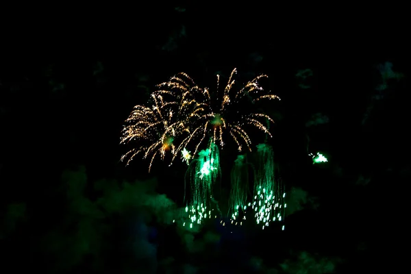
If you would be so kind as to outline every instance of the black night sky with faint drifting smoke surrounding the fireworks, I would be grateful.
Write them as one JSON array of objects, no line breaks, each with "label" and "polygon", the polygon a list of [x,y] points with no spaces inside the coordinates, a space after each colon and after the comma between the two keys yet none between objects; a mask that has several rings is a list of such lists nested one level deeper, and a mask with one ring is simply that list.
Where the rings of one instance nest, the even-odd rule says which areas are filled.
[{"label": "black night sky with faint drifting smoke surrounding the fireworks", "polygon": [[[394,273],[411,175],[401,9],[192,2],[61,7],[8,21],[3,272]],[[268,75],[262,86],[281,98],[264,112],[275,120],[275,169],[297,205],[284,232],[248,225],[228,233],[219,220],[182,229],[154,205],[184,207],[186,166],[157,160],[148,173],[148,160],[120,161],[123,122],[156,84],[184,71],[214,88],[216,75],[227,79],[234,68],[242,83]],[[327,163],[312,164],[308,154],[318,151]],[[224,210],[236,153],[221,150]],[[147,201],[134,202],[134,192]]]}]

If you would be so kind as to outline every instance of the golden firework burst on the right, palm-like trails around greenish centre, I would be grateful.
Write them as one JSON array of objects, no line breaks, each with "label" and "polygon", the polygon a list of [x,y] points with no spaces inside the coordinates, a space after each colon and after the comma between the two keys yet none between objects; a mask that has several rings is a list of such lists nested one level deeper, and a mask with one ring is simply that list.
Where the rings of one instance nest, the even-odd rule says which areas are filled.
[{"label": "golden firework burst on the right, palm-like trails around greenish centre", "polygon": [[[234,69],[223,90],[220,90],[220,76],[217,75],[217,88],[216,92],[213,93],[214,97],[208,88],[199,88],[189,78],[192,88],[187,88],[187,90],[190,90],[190,95],[196,101],[195,111],[190,112],[190,115],[186,117],[187,125],[190,125],[188,131],[190,134],[182,140],[178,149],[189,147],[191,143],[195,143],[195,154],[208,135],[212,136],[212,142],[223,147],[225,145],[223,136],[228,135],[236,142],[238,151],[242,151],[244,146],[251,151],[251,140],[245,129],[247,126],[255,127],[271,137],[269,129],[262,121],[273,123],[273,119],[266,114],[253,112],[252,108],[249,110],[244,107],[246,105],[252,106],[262,99],[279,99],[279,97],[264,94],[259,80],[267,77],[266,75],[260,75],[236,90],[233,79],[236,73],[237,71]],[[188,87],[190,84],[184,82],[184,87]]]}]

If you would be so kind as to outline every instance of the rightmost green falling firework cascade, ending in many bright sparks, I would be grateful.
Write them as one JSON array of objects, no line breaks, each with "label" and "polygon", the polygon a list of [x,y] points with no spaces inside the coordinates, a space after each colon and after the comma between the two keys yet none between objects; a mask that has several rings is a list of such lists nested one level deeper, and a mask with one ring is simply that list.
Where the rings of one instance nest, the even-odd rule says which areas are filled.
[{"label": "rightmost green falling firework cascade, ending in many bright sparks", "polygon": [[[254,182],[254,197],[251,208],[256,222],[262,229],[271,221],[284,221],[286,192],[279,179],[275,179],[273,148],[266,144],[257,146],[258,170]],[[282,227],[284,230],[284,226]]]}]

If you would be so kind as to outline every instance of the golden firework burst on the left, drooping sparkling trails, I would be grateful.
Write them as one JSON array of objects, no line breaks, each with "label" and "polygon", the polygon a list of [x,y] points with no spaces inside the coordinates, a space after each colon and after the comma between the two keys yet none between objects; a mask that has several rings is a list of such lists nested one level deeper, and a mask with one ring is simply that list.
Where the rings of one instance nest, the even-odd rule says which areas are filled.
[{"label": "golden firework burst on the left, drooping sparkling trails", "polygon": [[[186,123],[197,106],[188,84],[185,84],[188,79],[190,77],[185,73],[171,77],[151,94],[151,108],[145,105],[134,107],[125,121],[121,137],[122,144],[132,141],[138,144],[138,148],[130,149],[122,156],[122,161],[127,159],[127,165],[136,155],[142,154],[144,159],[151,158],[150,171],[156,156],[164,160],[166,153],[170,152],[174,159],[180,151],[174,144],[180,136],[189,133]],[[184,155],[186,161],[190,160],[188,155]]]}]

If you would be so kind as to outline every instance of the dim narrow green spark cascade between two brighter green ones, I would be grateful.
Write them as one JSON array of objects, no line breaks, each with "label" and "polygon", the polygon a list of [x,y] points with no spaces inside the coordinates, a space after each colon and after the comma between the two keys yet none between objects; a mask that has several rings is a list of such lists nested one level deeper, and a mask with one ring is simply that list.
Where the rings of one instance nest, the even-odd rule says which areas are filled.
[{"label": "dim narrow green spark cascade between two brighter green ones", "polygon": [[[245,155],[238,155],[231,173],[231,192],[229,210],[232,223],[242,225],[247,210],[247,194],[249,192],[249,173]],[[251,203],[250,203],[251,206]]]}]

